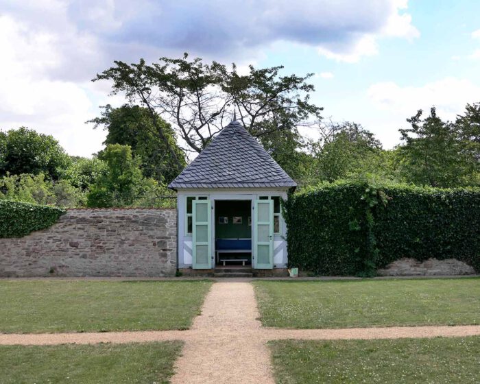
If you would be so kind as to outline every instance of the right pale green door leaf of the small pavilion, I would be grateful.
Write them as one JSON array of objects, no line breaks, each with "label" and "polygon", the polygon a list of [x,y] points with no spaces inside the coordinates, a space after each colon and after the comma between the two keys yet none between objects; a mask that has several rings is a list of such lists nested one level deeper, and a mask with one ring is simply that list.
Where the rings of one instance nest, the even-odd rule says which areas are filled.
[{"label": "right pale green door leaf of the small pavilion", "polygon": [[256,269],[274,267],[274,201],[255,200],[253,261]]}]

